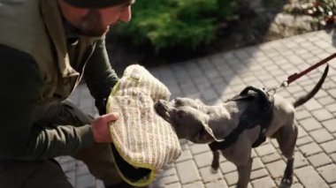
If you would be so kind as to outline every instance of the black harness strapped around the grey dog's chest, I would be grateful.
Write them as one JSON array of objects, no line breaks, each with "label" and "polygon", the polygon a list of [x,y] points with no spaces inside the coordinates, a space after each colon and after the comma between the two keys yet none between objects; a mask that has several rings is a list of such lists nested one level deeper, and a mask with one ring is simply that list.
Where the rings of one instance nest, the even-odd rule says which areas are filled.
[{"label": "black harness strapped around the grey dog's chest", "polygon": [[[252,93],[248,93],[252,91]],[[242,90],[241,94],[238,94],[228,101],[248,101],[250,104],[248,108],[241,114],[241,119],[238,126],[225,137],[223,141],[215,141],[209,144],[212,151],[224,150],[227,147],[233,145],[237,141],[241,132],[246,129],[252,129],[256,125],[260,125],[261,129],[259,137],[252,147],[260,146],[266,137],[264,133],[267,131],[273,115],[273,97],[267,94],[263,89],[256,88],[254,86],[247,86]]]}]

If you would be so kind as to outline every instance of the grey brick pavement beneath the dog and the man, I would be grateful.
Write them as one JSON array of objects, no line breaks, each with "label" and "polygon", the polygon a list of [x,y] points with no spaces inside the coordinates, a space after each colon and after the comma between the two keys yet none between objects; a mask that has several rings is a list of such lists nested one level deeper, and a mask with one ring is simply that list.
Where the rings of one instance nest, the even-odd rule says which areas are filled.
[{"label": "grey brick pavement beneath the dog and the man", "polygon": [[[315,64],[336,51],[336,38],[325,31],[302,34],[258,46],[205,56],[187,62],[150,69],[176,96],[200,98],[208,104],[223,102],[247,85],[278,86],[286,76]],[[336,188],[336,60],[316,97],[297,109],[299,138],[295,147],[294,188]],[[312,71],[279,92],[294,101],[317,82],[323,68]],[[72,95],[85,112],[96,115],[85,85]],[[181,140],[183,153],[156,179],[157,187],[215,188],[234,187],[237,171],[222,156],[217,174],[210,173],[211,153],[206,145]],[[249,187],[277,187],[285,169],[285,159],[275,140],[268,139],[253,149]],[[58,158],[76,188],[103,187],[88,168],[71,157]]]}]

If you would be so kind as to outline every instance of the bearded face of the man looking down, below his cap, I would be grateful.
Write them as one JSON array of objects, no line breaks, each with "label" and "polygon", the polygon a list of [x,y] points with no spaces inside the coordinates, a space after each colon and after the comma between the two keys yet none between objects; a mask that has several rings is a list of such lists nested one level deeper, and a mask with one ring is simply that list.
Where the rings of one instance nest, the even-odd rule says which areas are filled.
[{"label": "bearded face of the man looking down, below his cap", "polygon": [[87,36],[102,36],[108,32],[110,26],[118,22],[128,22],[131,19],[131,5],[133,1],[127,4],[119,4],[103,9],[88,10],[75,25],[78,32]]}]

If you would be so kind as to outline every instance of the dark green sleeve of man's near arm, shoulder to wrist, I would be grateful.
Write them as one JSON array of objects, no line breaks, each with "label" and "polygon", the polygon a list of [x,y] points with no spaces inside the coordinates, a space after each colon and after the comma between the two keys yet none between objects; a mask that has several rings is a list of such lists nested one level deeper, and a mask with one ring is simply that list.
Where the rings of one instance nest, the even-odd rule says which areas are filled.
[{"label": "dark green sleeve of man's near arm, shoulder to wrist", "polygon": [[43,86],[34,59],[0,45],[0,159],[36,160],[74,154],[93,143],[90,125],[57,128],[34,124]]}]

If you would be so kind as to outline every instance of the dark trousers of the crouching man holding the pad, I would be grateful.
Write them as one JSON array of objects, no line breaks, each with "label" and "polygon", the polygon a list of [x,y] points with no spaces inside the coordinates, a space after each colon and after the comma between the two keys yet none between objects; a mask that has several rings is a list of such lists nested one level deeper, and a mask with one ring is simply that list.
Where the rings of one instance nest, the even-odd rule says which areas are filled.
[{"label": "dark trousers of the crouching man holding the pad", "polygon": [[[57,126],[90,124],[92,117],[76,108],[72,102],[52,102],[38,108],[35,124]],[[118,184],[122,181],[114,165],[109,144],[97,144],[83,148],[73,158],[84,162],[90,173],[104,184]],[[36,162],[0,161],[0,188],[70,188],[65,173],[53,160]]]}]

